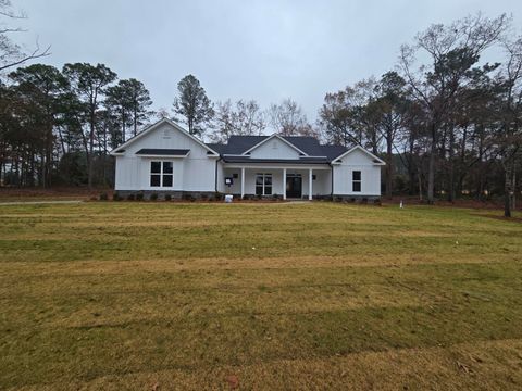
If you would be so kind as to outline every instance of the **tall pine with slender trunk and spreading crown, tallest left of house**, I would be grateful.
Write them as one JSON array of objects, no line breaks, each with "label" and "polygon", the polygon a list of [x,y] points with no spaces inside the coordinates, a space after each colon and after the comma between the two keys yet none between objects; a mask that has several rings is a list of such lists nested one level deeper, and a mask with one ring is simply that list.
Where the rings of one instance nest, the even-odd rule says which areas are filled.
[{"label": "tall pine with slender trunk and spreading crown, tallest left of house", "polygon": [[78,108],[82,113],[83,123],[86,123],[88,130],[83,133],[85,153],[87,157],[88,186],[92,188],[94,178],[94,150],[95,136],[97,130],[100,103],[105,87],[116,79],[116,74],[103,64],[91,65],[87,63],[65,64],[63,74],[69,78],[72,92],[76,94],[82,105]]}]

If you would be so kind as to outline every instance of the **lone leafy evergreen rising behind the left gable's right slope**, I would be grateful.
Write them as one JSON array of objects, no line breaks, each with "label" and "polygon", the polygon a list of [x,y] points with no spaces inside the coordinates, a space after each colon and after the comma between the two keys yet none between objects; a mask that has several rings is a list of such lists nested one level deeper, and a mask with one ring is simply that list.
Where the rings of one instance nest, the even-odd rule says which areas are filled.
[{"label": "lone leafy evergreen rising behind the left gable's right slope", "polygon": [[174,113],[183,117],[190,135],[202,136],[206,126],[210,125],[214,116],[213,104],[207,97],[199,80],[192,76],[185,76],[177,84],[178,97],[174,100]]}]

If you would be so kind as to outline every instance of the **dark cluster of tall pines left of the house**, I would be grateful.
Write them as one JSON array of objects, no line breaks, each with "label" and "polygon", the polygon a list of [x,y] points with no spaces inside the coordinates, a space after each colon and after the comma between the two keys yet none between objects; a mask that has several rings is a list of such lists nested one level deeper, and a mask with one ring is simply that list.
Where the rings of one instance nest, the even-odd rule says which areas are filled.
[{"label": "dark cluster of tall pines left of the house", "polygon": [[34,64],[0,85],[0,171],[4,185],[103,186],[109,152],[148,121],[149,91],[103,64]]}]

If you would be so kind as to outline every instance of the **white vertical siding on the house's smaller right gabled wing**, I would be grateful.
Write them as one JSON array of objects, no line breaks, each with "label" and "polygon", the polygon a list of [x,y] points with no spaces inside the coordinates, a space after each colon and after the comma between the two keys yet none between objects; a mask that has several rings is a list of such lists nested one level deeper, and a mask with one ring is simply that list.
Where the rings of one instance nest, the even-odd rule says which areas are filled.
[{"label": "white vertical siding on the house's smaller right gabled wing", "polygon": [[[381,195],[381,166],[360,150],[355,150],[341,159],[334,169],[334,195]],[[352,173],[361,172],[361,191],[352,191]]]}]

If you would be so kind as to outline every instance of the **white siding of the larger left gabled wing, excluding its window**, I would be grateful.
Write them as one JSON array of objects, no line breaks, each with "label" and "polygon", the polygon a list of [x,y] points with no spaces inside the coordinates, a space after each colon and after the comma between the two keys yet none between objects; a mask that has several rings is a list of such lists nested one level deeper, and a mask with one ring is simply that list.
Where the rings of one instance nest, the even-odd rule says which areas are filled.
[{"label": "white siding of the larger left gabled wing, excluding its window", "polygon": [[[144,157],[136,152],[144,148],[188,149],[186,157]],[[161,124],[154,131],[145,135],[125,148],[116,156],[115,190],[152,191],[215,191],[215,157],[209,157],[203,148],[182,130],[169,123]],[[173,162],[173,186],[150,187],[150,162]]]}]

